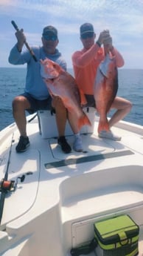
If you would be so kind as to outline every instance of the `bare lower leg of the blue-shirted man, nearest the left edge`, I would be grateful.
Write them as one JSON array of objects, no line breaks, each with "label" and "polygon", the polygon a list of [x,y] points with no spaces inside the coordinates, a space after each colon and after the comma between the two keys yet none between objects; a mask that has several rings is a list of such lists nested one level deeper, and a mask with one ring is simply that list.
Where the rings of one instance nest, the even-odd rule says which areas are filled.
[{"label": "bare lower leg of the blue-shirted man, nearest the left edge", "polygon": [[29,101],[24,96],[16,96],[15,99],[13,99],[13,117],[21,136],[24,137],[27,137],[25,110],[29,108]]}]

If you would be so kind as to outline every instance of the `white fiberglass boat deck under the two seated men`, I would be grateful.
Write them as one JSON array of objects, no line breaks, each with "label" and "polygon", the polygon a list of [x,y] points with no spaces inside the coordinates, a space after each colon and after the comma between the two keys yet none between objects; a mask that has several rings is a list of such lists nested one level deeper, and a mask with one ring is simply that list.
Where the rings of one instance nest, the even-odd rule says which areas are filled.
[{"label": "white fiberglass boat deck under the two seated men", "polygon": [[[63,154],[57,145],[55,116],[47,111],[38,116],[41,133],[38,117],[29,116],[30,147],[22,154],[15,151],[15,123],[0,132],[0,180],[7,173],[4,188],[1,181],[0,255],[69,256],[71,248],[92,240],[97,220],[121,214],[139,225],[142,255],[142,126],[122,121],[112,129],[121,141],[100,139],[96,117],[92,128],[81,131],[84,151]],[[72,145],[68,125],[66,138]]]}]

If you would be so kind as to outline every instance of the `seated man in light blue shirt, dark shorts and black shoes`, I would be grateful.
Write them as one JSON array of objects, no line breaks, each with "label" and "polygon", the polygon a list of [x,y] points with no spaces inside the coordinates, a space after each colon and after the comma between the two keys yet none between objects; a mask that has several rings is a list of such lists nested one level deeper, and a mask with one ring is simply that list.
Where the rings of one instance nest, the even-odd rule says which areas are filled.
[{"label": "seated man in light blue shirt, dark shorts and black shoes", "polygon": [[[15,149],[17,152],[23,152],[29,147],[25,111],[27,110],[32,114],[38,110],[55,108],[57,130],[59,134],[57,142],[64,153],[70,153],[71,147],[64,137],[67,119],[66,108],[59,97],[55,96],[51,98],[49,95],[46,85],[41,77],[40,62],[35,62],[32,55],[29,53],[29,50],[22,50],[24,42],[26,42],[24,30],[18,30],[15,33],[15,36],[18,42],[10,51],[9,62],[13,65],[24,65],[27,63],[27,77],[24,93],[15,96],[15,99],[13,99],[13,117],[21,135]],[[53,26],[47,26],[43,28],[43,45],[41,47],[32,47],[31,49],[35,54],[36,59],[52,59],[52,61],[57,62],[64,70],[66,70],[66,62],[56,48],[58,42],[57,29]],[[74,134],[76,133],[77,131],[74,132]],[[79,143],[77,141],[77,151],[78,149]]]}]

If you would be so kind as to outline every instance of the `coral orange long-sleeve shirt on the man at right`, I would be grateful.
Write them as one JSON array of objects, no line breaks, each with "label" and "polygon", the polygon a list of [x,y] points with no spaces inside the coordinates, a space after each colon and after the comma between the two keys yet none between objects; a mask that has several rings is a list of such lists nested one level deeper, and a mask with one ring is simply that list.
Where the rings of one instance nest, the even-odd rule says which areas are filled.
[{"label": "coral orange long-sleeve shirt on the man at right", "polygon": [[[114,48],[112,55],[116,57],[116,66],[122,67],[124,59],[121,54]],[[93,95],[94,79],[97,73],[98,65],[104,59],[104,50],[97,44],[94,44],[89,50],[83,48],[72,55],[72,64],[74,76],[80,92]]]}]

